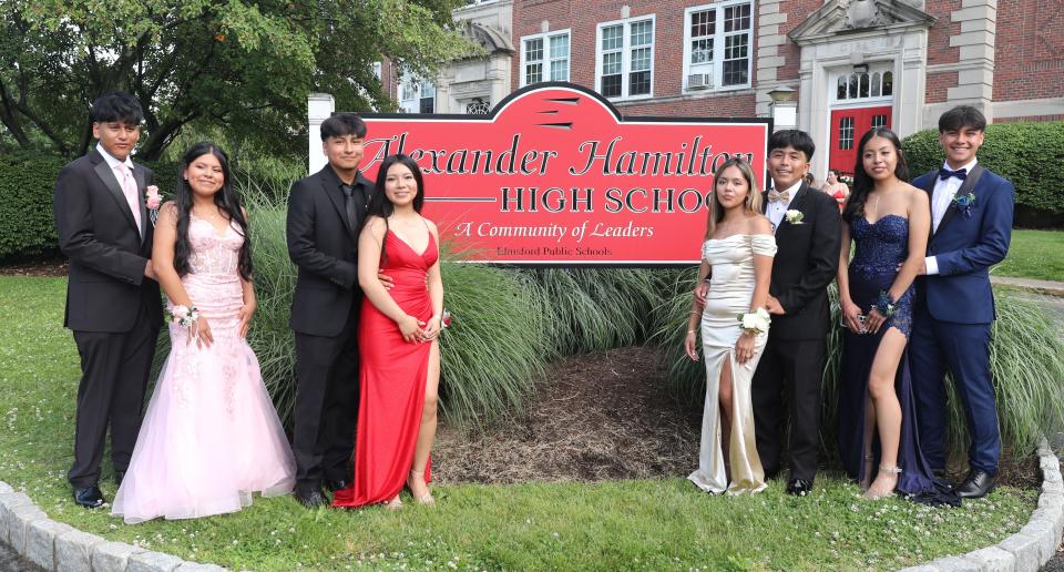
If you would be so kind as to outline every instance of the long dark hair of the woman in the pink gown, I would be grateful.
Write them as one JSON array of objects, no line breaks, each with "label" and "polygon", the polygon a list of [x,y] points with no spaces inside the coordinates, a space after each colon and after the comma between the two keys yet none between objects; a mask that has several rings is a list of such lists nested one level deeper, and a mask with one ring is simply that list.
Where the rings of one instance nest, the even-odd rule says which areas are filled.
[{"label": "long dark hair of the woman in the pink gown", "polygon": [[236,223],[236,232],[244,237],[244,245],[241,246],[238,269],[241,277],[250,282],[252,279],[252,239],[247,234],[247,218],[244,217],[244,211],[241,208],[241,197],[233,188],[233,176],[229,171],[229,157],[224,151],[214,143],[203,141],[196,143],[181,157],[181,166],[177,167],[177,191],[174,196],[174,205],[177,207],[177,244],[174,247],[174,269],[178,276],[184,276],[192,272],[188,264],[188,257],[192,255],[192,244],[188,242],[188,216],[192,212],[192,187],[185,178],[185,171],[195,160],[203,155],[211,154],[222,164],[222,190],[214,194],[214,204],[217,205],[222,215],[228,219],[229,224]]}]

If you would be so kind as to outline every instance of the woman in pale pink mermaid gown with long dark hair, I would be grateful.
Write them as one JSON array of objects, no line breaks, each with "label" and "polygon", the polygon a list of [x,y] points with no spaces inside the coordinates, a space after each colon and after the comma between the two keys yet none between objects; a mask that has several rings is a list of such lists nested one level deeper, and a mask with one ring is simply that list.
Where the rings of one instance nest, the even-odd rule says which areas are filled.
[{"label": "woman in pale pink mermaid gown with long dark hair", "polygon": [[170,299],[171,351],[112,514],[126,523],[235,512],[291,491],[295,461],[245,336],[255,311],[247,219],[225,154],[184,156],[152,264]]}]

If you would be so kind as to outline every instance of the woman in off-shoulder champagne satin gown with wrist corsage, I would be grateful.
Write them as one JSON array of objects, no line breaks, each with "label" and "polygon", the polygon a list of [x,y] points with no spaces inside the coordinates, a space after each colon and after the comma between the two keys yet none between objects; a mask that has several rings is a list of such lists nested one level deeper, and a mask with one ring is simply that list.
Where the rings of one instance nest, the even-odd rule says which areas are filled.
[{"label": "woman in off-shoulder champagne satin gown with wrist corsage", "polygon": [[[702,245],[700,296],[690,311],[685,343],[688,357],[697,360],[695,334],[700,327],[706,402],[698,469],[688,479],[713,493],[754,493],[767,487],[754,439],[750,381],[768,340],[764,306],[776,239],[770,223],[760,214],[761,195],[755,181],[744,161],[732,160],[717,170]],[[708,290],[702,286],[706,279]],[[704,308],[698,304],[702,297]],[[759,331],[737,319],[744,314],[761,315],[751,317],[753,323],[759,321]]]}]

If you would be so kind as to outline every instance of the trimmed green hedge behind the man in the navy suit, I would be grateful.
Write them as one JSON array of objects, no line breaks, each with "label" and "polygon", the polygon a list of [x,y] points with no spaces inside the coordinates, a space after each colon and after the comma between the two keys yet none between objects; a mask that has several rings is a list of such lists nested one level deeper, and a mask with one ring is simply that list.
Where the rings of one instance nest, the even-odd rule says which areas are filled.
[{"label": "trimmed green hedge behind the man in the navy suit", "polygon": [[[913,177],[945,160],[938,130],[913,133],[902,149]],[[1016,226],[1064,223],[1064,121],[988,125],[979,162],[1016,185]]]}]

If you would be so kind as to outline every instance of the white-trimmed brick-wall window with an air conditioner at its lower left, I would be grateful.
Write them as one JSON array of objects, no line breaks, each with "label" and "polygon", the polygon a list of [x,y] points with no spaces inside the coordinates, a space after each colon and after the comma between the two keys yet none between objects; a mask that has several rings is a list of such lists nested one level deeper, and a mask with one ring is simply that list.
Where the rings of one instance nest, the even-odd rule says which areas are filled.
[{"label": "white-trimmed brick-wall window with an air conditioner at its lower left", "polygon": [[684,91],[750,86],[754,2],[719,2],[684,11]]}]

